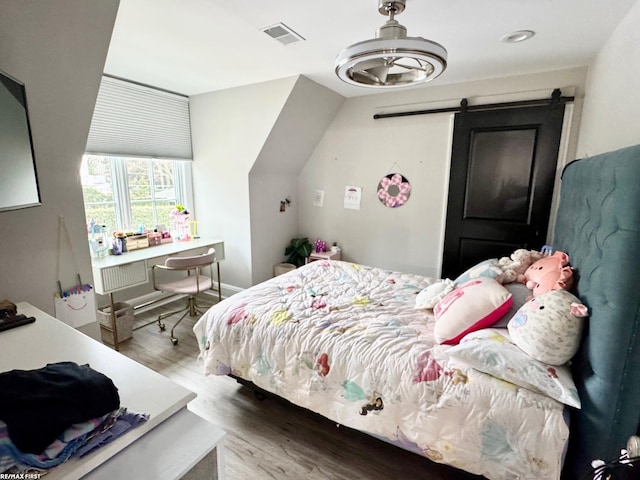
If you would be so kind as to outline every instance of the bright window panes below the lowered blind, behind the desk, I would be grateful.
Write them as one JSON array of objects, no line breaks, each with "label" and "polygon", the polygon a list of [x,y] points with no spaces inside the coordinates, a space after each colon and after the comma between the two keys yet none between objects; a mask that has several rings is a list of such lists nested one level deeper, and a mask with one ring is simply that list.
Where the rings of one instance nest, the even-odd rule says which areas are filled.
[{"label": "bright window panes below the lowered blind, behind the desk", "polygon": [[[87,231],[167,225],[177,204],[190,205],[191,162],[85,155],[80,168]],[[168,225],[167,225],[168,226]]]}]

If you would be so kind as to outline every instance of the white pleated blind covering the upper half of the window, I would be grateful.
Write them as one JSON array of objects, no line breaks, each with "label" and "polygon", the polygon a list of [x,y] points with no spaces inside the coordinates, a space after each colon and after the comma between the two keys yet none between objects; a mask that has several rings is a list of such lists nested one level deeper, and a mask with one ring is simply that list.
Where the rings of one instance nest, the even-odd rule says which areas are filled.
[{"label": "white pleated blind covering the upper half of the window", "polygon": [[189,98],[103,76],[86,152],[192,160]]}]

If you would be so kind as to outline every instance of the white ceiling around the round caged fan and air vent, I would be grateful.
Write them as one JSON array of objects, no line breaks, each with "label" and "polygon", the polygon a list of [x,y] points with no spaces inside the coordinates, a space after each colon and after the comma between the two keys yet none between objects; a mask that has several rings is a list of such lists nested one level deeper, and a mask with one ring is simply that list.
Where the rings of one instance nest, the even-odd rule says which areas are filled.
[{"label": "white ceiling around the round caged fan and air vent", "polygon": [[[396,20],[448,50],[430,83],[444,85],[588,65],[636,1],[407,0]],[[338,80],[334,60],[385,20],[377,0],[120,0],[105,72],[186,95],[298,74],[371,94]],[[284,46],[261,31],[278,22],[306,40]],[[500,42],[523,29],[536,35]]]}]

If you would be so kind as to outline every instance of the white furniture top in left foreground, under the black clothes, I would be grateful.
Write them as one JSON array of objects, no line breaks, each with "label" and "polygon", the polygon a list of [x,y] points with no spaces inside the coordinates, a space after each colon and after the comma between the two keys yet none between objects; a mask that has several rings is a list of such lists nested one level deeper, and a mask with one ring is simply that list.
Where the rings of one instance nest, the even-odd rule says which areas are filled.
[{"label": "white furniture top in left foreground, under the black clothes", "polygon": [[[89,364],[113,381],[118,388],[120,404],[131,412],[148,413],[149,420],[130,430],[120,438],[99,448],[82,459],[71,458],[47,473],[47,480],[75,480],[105,464],[109,468],[124,468],[131,460],[125,449],[133,448],[131,454],[137,455],[137,462],[148,465],[160,458],[174,458],[171,471],[176,476],[162,478],[180,478],[179,472],[196,464],[202,452],[212,451],[217,447],[218,472],[211,472],[209,478],[222,478],[222,439],[224,432],[216,429],[204,419],[186,410],[187,403],[196,397],[195,393],[173,383],[162,375],[140,365],[137,362],[114,352],[100,342],[87,337],[68,325],[56,320],[28,303],[18,303],[18,312],[34,316],[36,322],[0,332],[0,372],[13,369],[33,370],[44,367],[47,363],[71,361],[78,364]],[[178,414],[178,417],[173,417]],[[169,419],[168,423],[165,421]],[[185,423],[187,422],[187,423]],[[189,453],[183,451],[175,456],[175,441],[184,437],[184,425],[194,435],[190,437],[192,448]],[[162,429],[155,427],[161,426]],[[153,430],[152,430],[153,429]],[[204,434],[210,429],[211,432]],[[200,433],[199,433],[200,432]],[[176,440],[167,440],[173,434]],[[139,440],[138,440],[139,439]],[[135,445],[129,447],[134,441]],[[153,448],[149,450],[148,446]],[[195,445],[195,448],[193,446]],[[182,449],[186,450],[186,449]],[[180,451],[179,449],[176,451]],[[116,457],[116,454],[122,452]],[[137,452],[137,453],[136,453]],[[142,453],[141,453],[142,452]],[[144,453],[146,452],[146,453]],[[146,455],[146,456],[145,456]],[[173,457],[172,457],[173,455]],[[162,464],[162,462],[160,462]],[[218,477],[216,477],[216,473]],[[102,477],[92,478],[126,478]],[[131,477],[133,478],[133,477]],[[160,478],[138,476],[144,478]]]}]

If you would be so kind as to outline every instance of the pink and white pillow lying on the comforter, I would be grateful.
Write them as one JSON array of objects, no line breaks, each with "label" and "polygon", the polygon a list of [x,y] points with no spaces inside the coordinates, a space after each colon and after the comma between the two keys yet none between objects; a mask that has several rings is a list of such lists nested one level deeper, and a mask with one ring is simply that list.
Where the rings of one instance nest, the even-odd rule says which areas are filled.
[{"label": "pink and white pillow lying on the comforter", "polygon": [[467,333],[500,320],[512,301],[511,293],[493,278],[481,277],[460,285],[433,309],[436,341],[456,345]]}]

